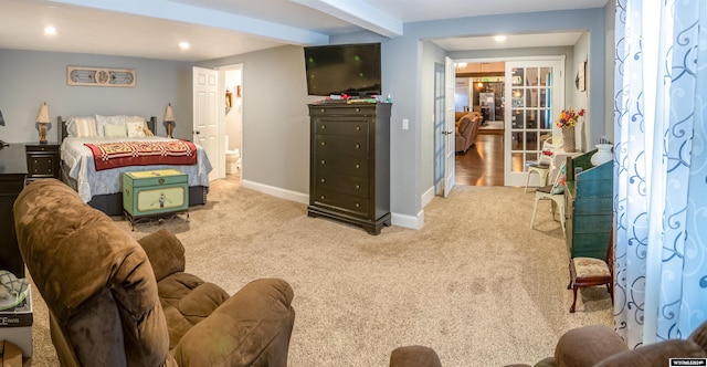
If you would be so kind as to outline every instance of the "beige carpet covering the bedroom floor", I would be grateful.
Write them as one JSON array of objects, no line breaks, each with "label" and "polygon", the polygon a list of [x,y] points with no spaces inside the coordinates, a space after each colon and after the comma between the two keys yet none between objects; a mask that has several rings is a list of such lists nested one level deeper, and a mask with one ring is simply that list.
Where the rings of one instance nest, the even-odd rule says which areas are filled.
[{"label": "beige carpet covering the bedroom floor", "polygon": [[[613,322],[605,287],[583,290],[569,313],[562,231],[549,202],[530,230],[532,201],[521,188],[458,187],[425,208],[421,230],[370,235],[218,180],[189,222],[144,223],[133,233],[173,230],[187,270],[230,293],[257,277],[287,280],[297,314],[293,367],[383,367],[393,348],[411,344],[433,347],[444,366],[535,364],[566,331]],[[45,306],[34,297],[34,356],[24,366],[54,366]]]}]

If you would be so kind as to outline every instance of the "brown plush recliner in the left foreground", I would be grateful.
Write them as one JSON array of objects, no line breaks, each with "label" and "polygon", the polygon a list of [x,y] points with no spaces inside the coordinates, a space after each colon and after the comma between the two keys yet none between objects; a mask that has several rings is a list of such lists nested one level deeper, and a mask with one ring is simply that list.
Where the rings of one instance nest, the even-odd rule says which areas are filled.
[{"label": "brown plush recliner in the left foreground", "polygon": [[172,233],[138,243],[54,179],[24,188],[14,222],[62,366],[287,365],[295,312],[285,281],[230,296],[183,272]]}]

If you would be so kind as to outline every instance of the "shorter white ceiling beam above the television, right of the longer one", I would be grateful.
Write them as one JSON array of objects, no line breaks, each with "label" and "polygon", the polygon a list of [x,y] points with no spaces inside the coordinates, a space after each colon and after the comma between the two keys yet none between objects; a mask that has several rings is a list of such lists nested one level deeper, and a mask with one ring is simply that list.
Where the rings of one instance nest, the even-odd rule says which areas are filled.
[{"label": "shorter white ceiling beam above the television, right of the longer one", "polygon": [[309,7],[371,32],[395,38],[402,35],[402,21],[358,0],[289,0]]}]

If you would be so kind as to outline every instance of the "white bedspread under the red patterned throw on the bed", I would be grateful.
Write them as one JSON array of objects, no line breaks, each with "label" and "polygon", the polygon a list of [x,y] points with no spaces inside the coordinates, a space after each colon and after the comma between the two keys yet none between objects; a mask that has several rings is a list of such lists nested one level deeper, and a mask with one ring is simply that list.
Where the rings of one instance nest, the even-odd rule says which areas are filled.
[{"label": "white bedspread under the red patterned throw on the bed", "polygon": [[[122,137],[118,141],[134,140],[170,140],[166,137]],[[197,145],[197,164],[192,166],[128,166],[120,168],[112,168],[96,171],[94,165],[93,153],[84,144],[102,144],[116,141],[116,138],[109,137],[67,137],[61,146],[62,161],[70,168],[68,177],[76,181],[76,191],[81,198],[88,202],[91,198],[97,195],[122,192],[120,175],[127,171],[152,170],[173,168],[189,176],[189,186],[209,186],[209,172],[211,171],[211,162],[205,151]]]}]

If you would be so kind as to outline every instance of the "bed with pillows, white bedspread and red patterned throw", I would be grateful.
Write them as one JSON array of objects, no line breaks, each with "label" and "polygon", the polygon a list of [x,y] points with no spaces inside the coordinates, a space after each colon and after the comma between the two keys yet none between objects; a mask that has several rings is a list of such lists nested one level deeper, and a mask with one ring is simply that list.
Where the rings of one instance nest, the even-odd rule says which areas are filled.
[{"label": "bed with pillows, white bedspread and red patterned throw", "polygon": [[[141,116],[127,115],[77,116],[66,120],[59,116],[62,181],[74,188],[91,207],[108,216],[122,216],[120,176],[123,172],[173,168],[189,176],[189,206],[205,205],[209,172],[212,167],[204,149],[189,141],[154,136],[156,120],[156,117],[146,119]],[[112,145],[179,145],[184,147],[182,151],[188,154],[180,155],[182,160],[171,162],[152,157],[154,160],[144,159],[136,165],[125,160],[122,165],[114,165],[115,167],[105,166],[101,159],[94,157],[93,150],[97,151]],[[192,150],[196,150],[196,154]],[[162,153],[162,156],[165,155],[169,154]],[[191,160],[184,160],[188,158]]]}]

